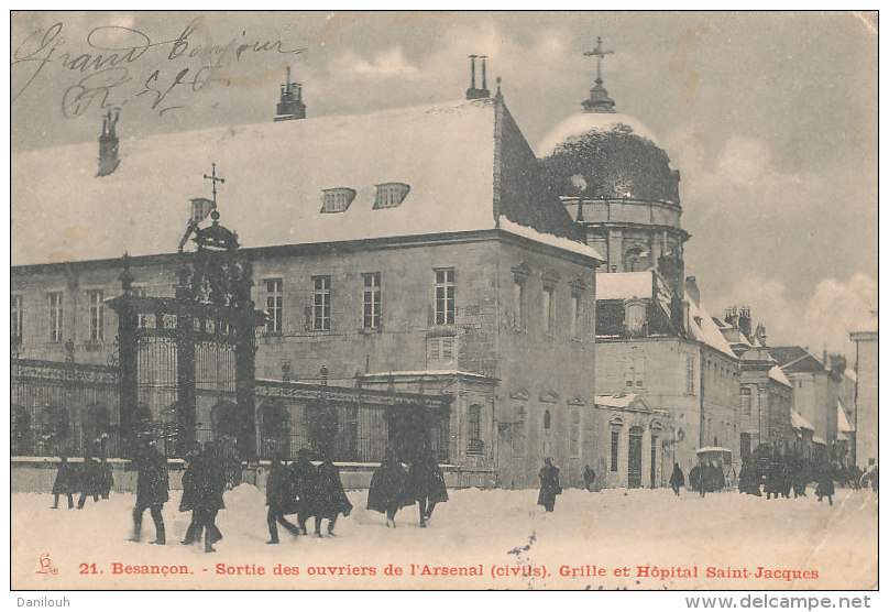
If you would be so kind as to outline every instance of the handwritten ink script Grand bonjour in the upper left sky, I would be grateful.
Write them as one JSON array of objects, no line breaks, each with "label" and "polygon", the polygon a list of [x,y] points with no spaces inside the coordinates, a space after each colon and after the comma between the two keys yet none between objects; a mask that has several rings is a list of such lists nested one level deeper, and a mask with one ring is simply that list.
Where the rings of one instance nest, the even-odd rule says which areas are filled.
[{"label": "handwritten ink script Grand bonjour in the upper left sky", "polygon": [[[228,86],[223,68],[260,54],[296,55],[281,40],[257,40],[242,31],[223,44],[204,42],[202,18],[178,36],[155,41],[119,25],[94,28],[83,41],[66,40],[63,22],[40,29],[12,53],[12,103],[43,80],[63,83],[62,112],[68,119],[87,110],[144,102],[158,114],[183,108],[188,96],[213,85]],[[13,43],[15,44],[15,43]]]}]

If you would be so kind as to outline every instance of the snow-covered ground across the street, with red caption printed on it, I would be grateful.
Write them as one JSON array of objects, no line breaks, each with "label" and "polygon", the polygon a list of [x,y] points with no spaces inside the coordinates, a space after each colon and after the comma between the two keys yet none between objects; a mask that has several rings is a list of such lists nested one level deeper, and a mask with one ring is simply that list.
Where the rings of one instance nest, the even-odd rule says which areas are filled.
[{"label": "snow-covered ground across the street, with red caption printed on it", "polygon": [[[830,506],[826,500],[817,503],[812,489],[805,499],[777,501],[735,492],[701,499],[684,491],[676,498],[669,490],[568,490],[552,514],[535,505],[536,491],[470,489],[450,494],[428,528],[419,528],[417,506],[411,506],[399,512],[398,527],[391,529],[383,515],[363,510],[366,492],[353,491],[349,496],[355,510],[340,518],[337,537],[293,537],[281,529],[282,543],[270,546],[264,494],[244,484],[226,493],[227,509],[217,521],[224,539],[217,553],[208,555],[196,545],[179,544],[189,521],[177,512],[179,491],[171,492],[164,509],[166,546],[147,544],[154,536],[147,512],[143,543],[127,540],[132,494],[112,493],[98,504],[89,500],[77,511],[50,510],[48,494],[14,493],[12,588],[870,589],[877,584],[877,495],[870,491],[837,489]],[[56,573],[37,573],[44,554],[48,564],[44,562]],[[92,564],[97,573],[81,573],[91,572]],[[185,566],[180,569],[191,573],[113,573],[114,564]],[[389,564],[402,575],[387,575]],[[220,575],[220,565],[228,572],[237,572],[237,566],[248,569]],[[442,576],[441,570],[437,576],[421,575],[424,566],[430,571],[472,568],[481,576]],[[639,566],[666,570],[666,579],[640,577]],[[298,575],[293,569],[276,575],[276,567],[298,568]],[[564,567],[579,571],[561,576]],[[805,573],[757,578],[760,567]],[[260,568],[264,575],[255,573]],[[707,568],[742,575],[746,568],[749,575],[707,577]],[[677,569],[692,576],[682,577],[685,572]],[[599,573],[603,570],[604,576]]]}]

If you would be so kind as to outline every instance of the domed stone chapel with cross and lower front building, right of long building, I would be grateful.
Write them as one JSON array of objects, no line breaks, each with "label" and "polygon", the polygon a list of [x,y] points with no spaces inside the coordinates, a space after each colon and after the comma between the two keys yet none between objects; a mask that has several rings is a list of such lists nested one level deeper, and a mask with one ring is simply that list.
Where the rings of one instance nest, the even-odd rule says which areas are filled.
[{"label": "domed stone chapel with cross and lower front building, right of long building", "polygon": [[[601,62],[606,53],[600,41],[588,55]],[[694,278],[685,278],[679,171],[657,136],[615,106],[600,69],[579,112],[542,139],[537,155],[588,244],[605,259],[596,288],[597,393],[633,394],[652,412],[645,424],[641,412],[634,416],[633,427],[643,428],[634,435],[658,438],[654,463],[663,484],[673,461],[685,471],[698,463],[699,448],[727,447],[738,459],[738,359],[701,305]],[[662,431],[649,430],[655,420]],[[622,431],[618,461],[606,455],[594,469],[618,485],[638,483],[639,467],[625,466]]]}]

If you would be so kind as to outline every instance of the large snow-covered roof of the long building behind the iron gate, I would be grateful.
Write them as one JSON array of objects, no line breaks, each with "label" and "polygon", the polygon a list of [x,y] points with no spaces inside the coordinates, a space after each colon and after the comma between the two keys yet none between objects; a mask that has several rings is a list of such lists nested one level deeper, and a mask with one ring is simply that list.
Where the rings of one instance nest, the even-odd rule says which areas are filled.
[{"label": "large snow-covered roof of the long building behind the iron gate", "polygon": [[[189,198],[210,194],[204,174],[213,162],[226,179],[220,221],[249,248],[494,229],[495,105],[463,100],[122,138],[120,166],[103,177],[96,176],[97,142],[17,154],[11,261],[175,252]],[[382,183],[410,188],[399,206],[374,209]],[[322,190],[334,187],[354,189],[354,199],[342,212],[321,214]],[[599,256],[568,240],[535,239]]]}]

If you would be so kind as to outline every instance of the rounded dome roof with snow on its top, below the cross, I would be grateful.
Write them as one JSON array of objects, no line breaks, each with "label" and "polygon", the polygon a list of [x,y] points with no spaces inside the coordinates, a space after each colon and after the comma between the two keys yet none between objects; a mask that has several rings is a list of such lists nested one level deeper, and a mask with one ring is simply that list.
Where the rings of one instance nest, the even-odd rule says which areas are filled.
[{"label": "rounded dome roof with snow on its top, below the cross", "polygon": [[679,172],[640,121],[616,112],[582,112],[559,123],[537,156],[560,196],[679,204]]}]

